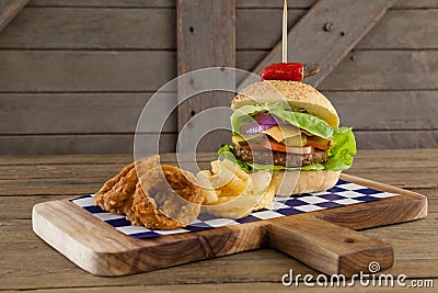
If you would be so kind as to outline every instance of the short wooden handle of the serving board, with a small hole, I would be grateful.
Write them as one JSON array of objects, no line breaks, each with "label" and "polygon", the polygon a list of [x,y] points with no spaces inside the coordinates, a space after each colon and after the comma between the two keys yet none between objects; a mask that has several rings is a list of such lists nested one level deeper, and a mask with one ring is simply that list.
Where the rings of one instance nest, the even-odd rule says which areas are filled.
[{"label": "short wooden handle of the serving board, with a small hole", "polygon": [[392,246],[314,216],[284,217],[268,225],[269,245],[327,274],[351,277],[392,267]]}]

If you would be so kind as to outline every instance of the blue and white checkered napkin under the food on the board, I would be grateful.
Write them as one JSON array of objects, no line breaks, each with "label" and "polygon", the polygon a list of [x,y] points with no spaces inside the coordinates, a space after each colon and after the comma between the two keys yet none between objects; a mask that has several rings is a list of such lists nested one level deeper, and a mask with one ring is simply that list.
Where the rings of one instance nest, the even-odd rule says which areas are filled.
[{"label": "blue and white checkered napkin under the food on the board", "polygon": [[80,196],[78,199],[71,200],[71,202],[76,203],[77,205],[92,213],[95,217],[106,222],[107,224],[112,225],[114,228],[126,235],[136,238],[149,238],[161,235],[239,225],[267,218],[345,206],[355,203],[371,202],[394,195],[397,194],[383,192],[339,180],[334,188],[327,191],[306,193],[300,196],[293,198],[276,196],[270,210],[263,209],[253,212],[251,215],[243,218],[218,218],[208,214],[200,214],[198,218],[195,219],[187,227],[173,230],[151,230],[143,226],[131,226],[130,222],[125,219],[124,215],[115,215],[110,212],[103,211],[99,206],[94,206],[92,201],[93,194]]}]

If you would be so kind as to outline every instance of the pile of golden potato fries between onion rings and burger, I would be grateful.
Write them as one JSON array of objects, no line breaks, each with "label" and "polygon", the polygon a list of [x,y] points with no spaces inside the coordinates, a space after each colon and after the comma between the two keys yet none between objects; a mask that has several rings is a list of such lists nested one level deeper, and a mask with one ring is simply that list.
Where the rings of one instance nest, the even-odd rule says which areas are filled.
[{"label": "pile of golden potato fries between onion rings and burger", "polygon": [[269,170],[246,173],[234,162],[211,161],[211,172],[201,170],[197,179],[205,192],[205,212],[228,218],[244,217],[251,212],[270,207],[275,196]]}]

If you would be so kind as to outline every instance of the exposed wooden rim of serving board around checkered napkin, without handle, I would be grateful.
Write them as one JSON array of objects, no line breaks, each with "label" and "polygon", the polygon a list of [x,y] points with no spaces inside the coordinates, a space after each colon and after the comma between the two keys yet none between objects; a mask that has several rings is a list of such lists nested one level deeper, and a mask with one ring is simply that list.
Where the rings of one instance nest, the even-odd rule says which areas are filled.
[{"label": "exposed wooden rim of serving board around checkered napkin, without handle", "polygon": [[[348,174],[343,174],[342,179],[401,195],[152,239],[124,235],[70,200],[36,204],[32,211],[32,224],[36,235],[83,270],[97,275],[126,275],[268,247],[269,225],[275,221],[292,223],[299,218],[314,218],[345,228],[361,229],[416,219],[427,214],[427,199],[422,194]],[[403,207],[410,213],[397,217],[387,216]],[[372,217],[379,221],[373,223]],[[90,237],[90,233],[94,237]],[[99,241],[105,243],[105,246],[99,245]],[[170,251],[170,256],[165,251]]]}]

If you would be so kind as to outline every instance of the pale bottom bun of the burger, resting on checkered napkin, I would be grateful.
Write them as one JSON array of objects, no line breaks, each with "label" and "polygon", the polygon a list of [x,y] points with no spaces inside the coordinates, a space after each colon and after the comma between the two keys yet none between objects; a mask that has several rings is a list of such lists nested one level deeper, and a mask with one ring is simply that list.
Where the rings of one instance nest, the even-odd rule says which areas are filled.
[{"label": "pale bottom bun of the burger, resting on checkered napkin", "polygon": [[290,196],[331,189],[339,176],[341,171],[281,171],[273,174],[273,183],[277,195]]}]

